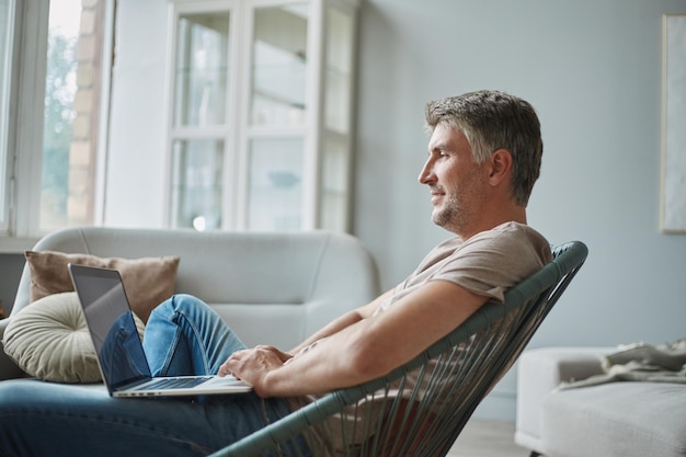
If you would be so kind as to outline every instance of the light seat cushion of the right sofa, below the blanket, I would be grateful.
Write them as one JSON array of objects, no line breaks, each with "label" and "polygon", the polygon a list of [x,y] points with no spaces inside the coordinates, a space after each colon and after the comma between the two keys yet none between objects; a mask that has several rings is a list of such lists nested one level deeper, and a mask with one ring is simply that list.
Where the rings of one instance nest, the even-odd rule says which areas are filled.
[{"label": "light seat cushion of the right sofa, below the blanket", "polygon": [[564,457],[686,456],[686,386],[609,382],[549,395],[544,454]]}]

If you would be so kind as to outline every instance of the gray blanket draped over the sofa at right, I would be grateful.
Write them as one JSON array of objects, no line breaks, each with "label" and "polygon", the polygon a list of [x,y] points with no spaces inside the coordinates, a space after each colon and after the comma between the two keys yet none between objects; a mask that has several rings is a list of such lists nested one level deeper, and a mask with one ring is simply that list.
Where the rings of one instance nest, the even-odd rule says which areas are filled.
[{"label": "gray blanket draped over the sofa at right", "polygon": [[563,382],[560,389],[615,381],[686,384],[686,339],[651,345],[636,343],[601,356],[603,374]]}]

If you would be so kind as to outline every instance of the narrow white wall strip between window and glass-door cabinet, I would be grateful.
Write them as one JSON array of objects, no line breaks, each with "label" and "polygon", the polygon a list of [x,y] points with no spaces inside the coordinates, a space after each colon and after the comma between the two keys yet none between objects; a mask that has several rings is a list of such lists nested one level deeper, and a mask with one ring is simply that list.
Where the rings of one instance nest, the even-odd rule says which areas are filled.
[{"label": "narrow white wall strip between window and glass-door cabinet", "polygon": [[164,225],[168,4],[117,1],[105,225]]}]

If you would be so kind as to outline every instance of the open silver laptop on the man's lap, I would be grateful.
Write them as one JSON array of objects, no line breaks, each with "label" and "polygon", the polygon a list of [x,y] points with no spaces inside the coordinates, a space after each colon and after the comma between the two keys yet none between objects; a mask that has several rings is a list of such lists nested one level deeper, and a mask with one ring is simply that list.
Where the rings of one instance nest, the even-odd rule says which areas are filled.
[{"label": "open silver laptop on the man's lap", "polygon": [[232,376],[152,377],[122,276],[116,270],[68,264],[112,397],[240,393],[251,386]]}]

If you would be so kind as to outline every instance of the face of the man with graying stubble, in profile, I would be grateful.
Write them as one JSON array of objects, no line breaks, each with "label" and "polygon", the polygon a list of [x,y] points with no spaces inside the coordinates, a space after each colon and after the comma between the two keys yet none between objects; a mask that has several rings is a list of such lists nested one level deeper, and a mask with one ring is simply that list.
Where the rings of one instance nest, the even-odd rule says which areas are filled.
[{"label": "face of the man with graying stubble, in profile", "polygon": [[475,162],[461,132],[443,124],[436,126],[419,181],[430,187],[434,224],[459,235],[479,217],[487,176],[484,167]]}]

